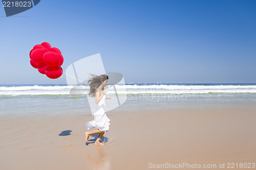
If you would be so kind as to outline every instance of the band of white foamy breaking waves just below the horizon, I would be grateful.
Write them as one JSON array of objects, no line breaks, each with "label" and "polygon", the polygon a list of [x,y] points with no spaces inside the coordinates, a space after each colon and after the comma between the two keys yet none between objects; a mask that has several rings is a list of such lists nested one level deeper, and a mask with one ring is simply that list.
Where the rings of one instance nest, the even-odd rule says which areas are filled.
[{"label": "band of white foamy breaking waves just below the horizon", "polygon": [[[66,85],[13,85],[0,86],[0,95],[44,95],[70,94],[72,89],[78,94],[86,94],[89,86]],[[211,94],[211,93],[256,93],[256,85],[115,85],[108,89],[108,94]]]}]

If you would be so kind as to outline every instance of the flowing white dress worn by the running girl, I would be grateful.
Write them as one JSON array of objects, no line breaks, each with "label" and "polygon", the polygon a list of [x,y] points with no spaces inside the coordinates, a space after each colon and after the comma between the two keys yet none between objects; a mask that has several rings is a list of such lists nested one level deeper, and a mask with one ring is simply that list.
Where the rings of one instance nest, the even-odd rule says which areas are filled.
[{"label": "flowing white dress worn by the running girl", "polygon": [[105,101],[106,96],[103,95],[100,102],[96,104],[96,108],[94,110],[94,120],[86,123],[88,130],[92,128],[98,128],[100,131],[103,132],[109,131],[110,119],[106,116],[105,113]]}]

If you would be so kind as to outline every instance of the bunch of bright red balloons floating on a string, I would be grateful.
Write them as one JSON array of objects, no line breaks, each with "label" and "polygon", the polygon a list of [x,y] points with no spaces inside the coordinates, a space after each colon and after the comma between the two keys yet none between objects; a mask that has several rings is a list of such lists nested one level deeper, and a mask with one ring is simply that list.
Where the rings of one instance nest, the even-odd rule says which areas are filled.
[{"label": "bunch of bright red balloons floating on a string", "polygon": [[50,79],[59,78],[63,70],[60,67],[63,64],[61,52],[56,47],[51,47],[48,42],[37,44],[29,53],[30,64],[37,68],[41,74]]}]

